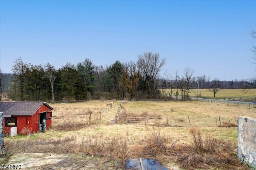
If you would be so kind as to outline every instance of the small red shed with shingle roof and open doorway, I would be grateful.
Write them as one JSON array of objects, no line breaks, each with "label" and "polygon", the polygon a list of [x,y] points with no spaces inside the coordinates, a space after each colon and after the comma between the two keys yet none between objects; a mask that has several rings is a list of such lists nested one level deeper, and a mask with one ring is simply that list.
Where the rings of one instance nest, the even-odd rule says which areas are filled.
[{"label": "small red shed with shingle roof and open doorway", "polygon": [[4,113],[4,133],[10,134],[11,127],[17,127],[17,134],[23,134],[24,128],[30,132],[50,129],[52,110],[42,101],[0,102],[0,112]]}]

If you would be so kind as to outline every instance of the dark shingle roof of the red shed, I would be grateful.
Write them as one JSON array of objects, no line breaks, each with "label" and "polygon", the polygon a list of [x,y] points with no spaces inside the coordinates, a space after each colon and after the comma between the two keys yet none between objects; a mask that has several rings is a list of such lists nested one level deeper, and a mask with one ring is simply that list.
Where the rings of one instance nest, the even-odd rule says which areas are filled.
[{"label": "dark shingle roof of the red shed", "polygon": [[52,107],[42,101],[0,102],[0,112],[12,116],[32,116],[42,106]]}]

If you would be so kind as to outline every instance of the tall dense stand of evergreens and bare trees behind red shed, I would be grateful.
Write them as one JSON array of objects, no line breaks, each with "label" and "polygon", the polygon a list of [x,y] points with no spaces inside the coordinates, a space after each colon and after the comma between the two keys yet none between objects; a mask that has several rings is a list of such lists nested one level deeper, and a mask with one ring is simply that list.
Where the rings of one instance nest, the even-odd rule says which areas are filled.
[{"label": "tall dense stand of evergreens and bare trees behind red shed", "polygon": [[[90,59],[56,69],[51,63],[33,65],[15,59],[12,74],[0,73],[0,93],[12,100],[86,100],[157,98],[159,73],[165,64],[158,53],[138,55],[137,62],[115,61],[103,67]],[[1,99],[2,100],[2,99]]]}]

